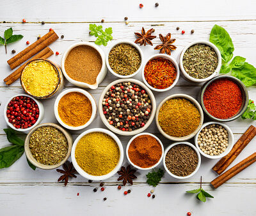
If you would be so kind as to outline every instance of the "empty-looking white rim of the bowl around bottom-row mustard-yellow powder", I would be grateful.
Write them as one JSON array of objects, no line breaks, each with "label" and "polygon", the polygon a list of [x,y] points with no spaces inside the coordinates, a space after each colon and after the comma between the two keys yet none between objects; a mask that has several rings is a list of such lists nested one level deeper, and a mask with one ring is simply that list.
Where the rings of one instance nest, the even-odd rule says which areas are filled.
[{"label": "empty-looking white rim of the bowl around bottom-row mustard-yellow powder", "polygon": [[[113,138],[116,141],[116,144],[118,145],[118,148],[120,151],[120,157],[119,157],[118,164],[110,173],[108,173],[106,175],[102,175],[102,176],[90,175],[90,174],[86,173],[85,171],[83,171],[83,169],[76,162],[75,152],[76,152],[76,145],[77,145],[78,141],[81,138],[83,138],[84,135],[93,133],[93,132],[101,132],[101,133],[105,133],[105,134],[108,134],[109,136],[111,136],[111,138]],[[115,134],[113,134],[111,131],[108,131],[108,130],[102,129],[102,128],[93,128],[88,131],[84,131],[76,138],[76,140],[74,141],[72,150],[71,150],[71,159],[72,159],[74,168],[81,176],[83,176],[84,178],[93,180],[93,181],[101,181],[101,180],[105,180],[105,179],[110,178],[111,176],[115,175],[115,173],[120,169],[120,167],[122,166],[122,162],[124,160],[124,148],[123,148],[123,145],[122,145],[121,141],[119,140],[119,138]]]}]

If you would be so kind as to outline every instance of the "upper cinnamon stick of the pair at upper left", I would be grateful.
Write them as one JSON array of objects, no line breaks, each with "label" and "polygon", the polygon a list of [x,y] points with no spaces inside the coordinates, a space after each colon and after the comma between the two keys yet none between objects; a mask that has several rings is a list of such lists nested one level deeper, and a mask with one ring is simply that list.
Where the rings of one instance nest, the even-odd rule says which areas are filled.
[{"label": "upper cinnamon stick of the pair at upper left", "polygon": [[45,47],[49,46],[52,42],[58,39],[58,35],[52,30],[45,34],[42,38],[35,41],[35,43],[31,44],[26,49],[22,50],[19,54],[12,57],[12,59],[8,60],[8,64],[10,65],[11,69],[16,68],[23,62],[27,61],[33,55],[37,54]]}]

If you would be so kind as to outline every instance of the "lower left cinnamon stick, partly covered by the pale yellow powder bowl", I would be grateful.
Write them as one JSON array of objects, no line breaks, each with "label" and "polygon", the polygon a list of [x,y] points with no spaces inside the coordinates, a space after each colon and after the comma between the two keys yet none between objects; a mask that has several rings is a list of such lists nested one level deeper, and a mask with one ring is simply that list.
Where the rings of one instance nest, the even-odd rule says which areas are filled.
[{"label": "lower left cinnamon stick, partly covered by the pale yellow powder bowl", "polygon": [[[36,54],[33,58],[31,58],[31,60],[40,59],[40,58],[47,59],[52,54],[53,54],[53,52],[52,52],[51,48],[46,47],[46,48],[44,48],[44,50],[42,50],[41,52]],[[20,66],[20,68],[15,70],[11,75],[7,76],[4,79],[4,82],[6,82],[6,85],[11,85],[13,82],[18,80],[20,78],[20,73],[25,68],[25,66],[26,66],[26,63],[22,64],[22,66]]]}]

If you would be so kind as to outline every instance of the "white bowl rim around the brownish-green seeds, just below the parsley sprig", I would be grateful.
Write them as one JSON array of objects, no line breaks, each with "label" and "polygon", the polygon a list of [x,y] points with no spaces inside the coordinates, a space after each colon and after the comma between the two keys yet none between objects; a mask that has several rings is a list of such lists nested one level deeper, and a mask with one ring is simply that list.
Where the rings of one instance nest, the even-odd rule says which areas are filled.
[{"label": "white bowl rim around the brownish-green seeds, just below the parsley sprig", "polygon": [[[110,65],[109,65],[109,61],[108,61],[108,55],[109,55],[109,52],[112,50],[112,48],[114,48],[116,45],[120,45],[122,43],[127,43],[129,45],[132,45],[132,47],[136,48],[136,50],[139,51],[140,53],[140,57],[141,57],[141,63],[140,63],[140,68],[138,68],[138,70],[134,73],[132,73],[132,75],[127,75],[127,76],[124,76],[124,75],[118,75],[118,73],[115,73],[115,71],[113,71],[113,69],[111,69]],[[136,43],[132,42],[132,41],[127,41],[127,40],[119,40],[119,41],[116,41],[116,43],[113,43],[113,45],[109,48],[108,50],[108,53],[106,55],[106,64],[107,64],[107,67],[108,67],[108,70],[115,76],[119,77],[119,78],[131,78],[132,76],[135,76],[137,73],[140,72],[141,68],[142,68],[142,62],[143,62],[143,52],[141,50],[141,48],[136,45]]]}]

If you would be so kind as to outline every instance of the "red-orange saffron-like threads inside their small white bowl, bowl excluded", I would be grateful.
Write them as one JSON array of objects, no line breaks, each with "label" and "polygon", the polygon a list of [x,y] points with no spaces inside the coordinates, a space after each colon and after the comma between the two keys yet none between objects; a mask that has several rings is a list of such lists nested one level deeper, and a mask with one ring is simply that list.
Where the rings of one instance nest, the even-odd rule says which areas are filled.
[{"label": "red-orange saffron-like threads inside their small white bowl, bowl excluded", "polygon": [[168,59],[156,58],[147,62],[144,69],[145,80],[155,89],[170,87],[177,77],[177,70]]}]

